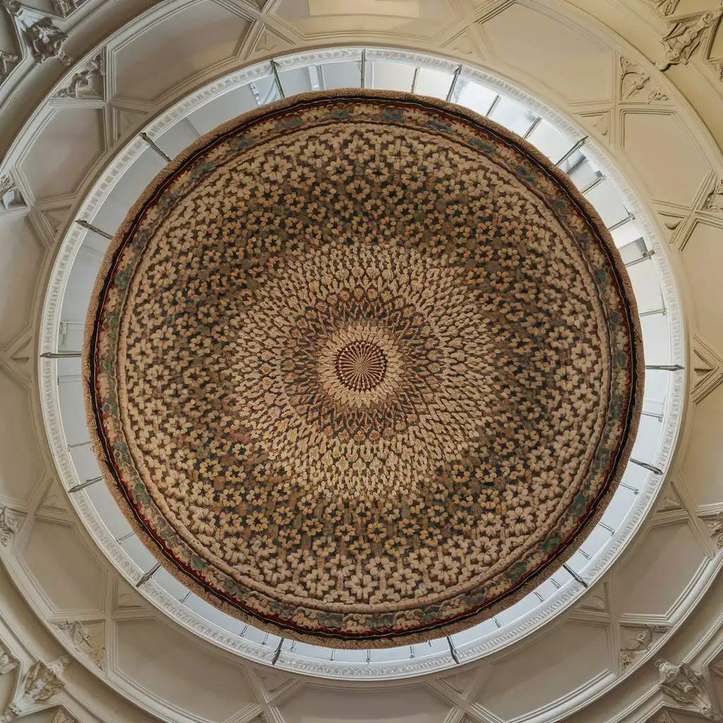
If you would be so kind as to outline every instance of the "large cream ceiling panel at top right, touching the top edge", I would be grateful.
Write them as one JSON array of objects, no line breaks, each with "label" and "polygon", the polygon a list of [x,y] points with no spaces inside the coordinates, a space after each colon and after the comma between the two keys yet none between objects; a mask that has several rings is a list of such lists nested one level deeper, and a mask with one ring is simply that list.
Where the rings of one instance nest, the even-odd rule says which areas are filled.
[{"label": "large cream ceiling panel at top right, touching the top edge", "polygon": [[530,74],[569,103],[612,98],[612,51],[575,27],[520,3],[481,25],[500,60]]}]

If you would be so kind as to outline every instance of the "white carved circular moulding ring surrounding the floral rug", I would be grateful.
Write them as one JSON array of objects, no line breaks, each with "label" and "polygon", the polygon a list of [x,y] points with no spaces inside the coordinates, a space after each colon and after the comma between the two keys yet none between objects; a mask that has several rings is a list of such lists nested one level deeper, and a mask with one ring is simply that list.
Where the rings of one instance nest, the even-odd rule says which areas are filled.
[{"label": "white carved circular moulding ring surrounding the floral rug", "polygon": [[[576,127],[569,119],[560,116],[540,100],[529,95],[518,87],[510,85],[504,80],[483,72],[482,70],[466,65],[460,65],[437,56],[427,56],[407,51],[389,50],[385,48],[367,48],[365,51],[367,61],[388,61],[406,62],[419,67],[443,70],[453,73],[461,67],[461,75],[466,79],[473,80],[495,90],[500,95],[506,96],[522,103],[533,110],[543,119],[554,124],[555,127],[568,134],[573,140],[583,137],[581,129]],[[304,67],[312,64],[322,64],[333,61],[360,61],[362,57],[361,48],[329,48],[325,50],[292,54],[275,59],[279,71],[296,67]],[[235,87],[247,84],[262,77],[272,74],[270,61],[254,64],[251,67],[241,69],[237,72],[226,75],[220,80],[206,85],[192,95],[176,103],[166,113],[158,116],[143,129],[151,138],[158,138],[163,132],[184,119],[192,111],[233,90]],[[623,176],[609,161],[604,151],[595,145],[591,140],[586,142],[586,155],[591,158],[596,166],[604,171],[607,179],[612,181],[615,190],[623,197],[625,205],[635,215],[638,226],[643,231],[643,236],[648,249],[654,250],[654,256],[648,263],[655,266],[660,290],[664,299],[664,306],[667,314],[668,337],[670,344],[669,364],[685,364],[685,336],[683,328],[683,316],[680,309],[680,301],[675,288],[667,258],[660,244],[654,226],[649,221],[645,210],[636,199],[633,190]],[[122,174],[132,165],[133,161],[147,150],[147,143],[134,136],[123,149],[116,155],[105,173],[96,181],[84,202],[77,209],[76,218],[92,219],[104,200],[108,197],[115,184]],[[64,294],[67,288],[72,265],[76,254],[85,239],[87,231],[77,224],[72,224],[64,239],[61,242],[59,254],[56,257],[54,268],[48,282],[46,299],[43,306],[42,326],[40,332],[39,352],[56,351],[59,343],[59,327],[61,322],[61,307]],[[64,428],[61,419],[61,405],[59,401],[59,387],[57,384],[57,369],[54,361],[40,359],[39,361],[39,386],[40,400],[43,411],[43,421],[46,426],[48,442],[51,447],[56,468],[59,472],[61,484],[64,489],[70,489],[82,482],[79,479],[74,467],[71,454],[67,445]],[[662,419],[662,434],[660,437],[656,457],[646,462],[653,464],[656,468],[665,473],[668,469],[672,453],[675,449],[677,435],[680,429],[680,422],[683,414],[683,398],[685,392],[686,377],[684,374],[672,373],[669,375],[667,397]],[[480,625],[453,636],[455,651],[460,663],[471,662],[492,652],[509,646],[523,636],[532,633],[540,626],[547,623],[560,612],[573,604],[585,591],[586,586],[598,580],[607,571],[609,565],[623,552],[626,545],[638,531],[641,523],[656,499],[657,493],[662,488],[665,474],[647,474],[640,484],[633,505],[631,505],[623,524],[615,530],[598,552],[586,562],[586,565],[579,569],[584,584],[570,578],[568,582],[560,586],[552,596],[539,602],[533,609],[527,611],[518,619],[512,620],[507,625],[495,625],[493,620],[486,621]],[[90,498],[85,491],[75,492],[69,495],[72,505],[79,517],[87,527],[98,547],[103,550],[113,565],[121,572],[124,578],[131,584],[138,583],[145,570],[138,566],[124,552],[121,544],[110,534],[97,510],[93,507]],[[223,649],[232,651],[244,656],[253,662],[271,664],[275,649],[280,638],[268,636],[259,630],[249,626],[244,628],[244,633],[234,634],[231,630],[221,628],[215,623],[206,620],[197,612],[192,611],[179,600],[168,594],[161,586],[151,579],[145,583],[140,592],[155,607],[166,615],[169,615],[177,623],[184,626],[193,633],[206,638]],[[683,617],[683,609],[679,609],[677,616]],[[228,617],[228,616],[227,616]],[[229,620],[234,618],[229,617]],[[239,621],[236,626],[241,628]],[[498,627],[499,626],[499,627]],[[248,632],[247,632],[248,631]],[[477,633],[476,635],[474,633]],[[288,644],[288,643],[287,643]],[[299,652],[296,651],[298,647]],[[309,654],[307,649],[317,649],[318,656]],[[415,652],[416,649],[416,652]],[[315,650],[315,652],[317,652]],[[393,657],[393,651],[398,656]],[[301,654],[304,652],[304,654]],[[351,653],[351,651],[336,651],[338,654]],[[448,643],[441,638],[430,643],[429,650],[423,646],[400,646],[398,648],[375,650],[369,652],[354,651],[359,654],[359,662],[342,661],[335,659],[335,653],[328,648],[320,646],[308,646],[299,643],[293,650],[288,647],[276,663],[276,668],[293,672],[314,675],[318,677],[334,678],[338,680],[380,680],[399,677],[410,677],[422,675],[429,672],[437,672],[449,667],[454,667],[455,662],[450,655]],[[376,658],[376,659],[375,659]],[[604,682],[599,681],[600,685]]]}]

